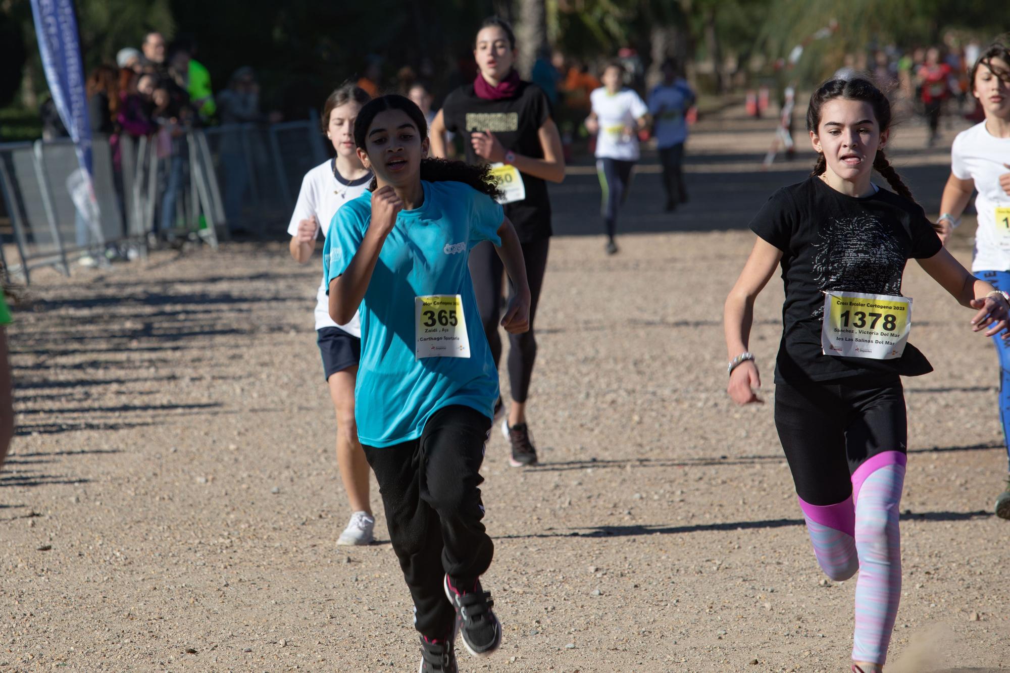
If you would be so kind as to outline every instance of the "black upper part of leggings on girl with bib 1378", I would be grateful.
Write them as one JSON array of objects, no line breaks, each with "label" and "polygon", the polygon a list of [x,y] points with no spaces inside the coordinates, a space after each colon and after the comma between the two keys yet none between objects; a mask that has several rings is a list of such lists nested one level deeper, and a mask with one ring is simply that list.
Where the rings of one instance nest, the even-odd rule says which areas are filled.
[{"label": "black upper part of leggings on girl with bib 1378", "polygon": [[853,377],[775,386],[775,426],[796,494],[831,505],[852,493],[851,475],[886,451],[906,452],[901,379]]}]

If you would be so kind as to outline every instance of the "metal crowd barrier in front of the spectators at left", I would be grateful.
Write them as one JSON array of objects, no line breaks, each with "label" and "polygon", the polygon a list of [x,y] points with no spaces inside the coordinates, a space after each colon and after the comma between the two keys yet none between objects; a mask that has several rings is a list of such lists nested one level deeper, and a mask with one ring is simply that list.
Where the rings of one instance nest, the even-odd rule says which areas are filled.
[{"label": "metal crowd barrier in front of the spectators at left", "polygon": [[[316,117],[191,130],[171,143],[173,152],[158,135],[121,133],[118,147],[96,136],[97,212],[80,194],[75,202],[81,176],[69,138],[0,145],[0,197],[20,258],[8,266],[0,246],[0,263],[27,283],[39,267],[70,275],[86,254],[101,257],[115,248],[144,257],[156,232],[196,235],[216,250],[218,236],[232,230],[264,235],[279,222],[286,228],[302,176],[326,160],[318,128]],[[177,185],[175,217],[162,222],[170,182]]]}]

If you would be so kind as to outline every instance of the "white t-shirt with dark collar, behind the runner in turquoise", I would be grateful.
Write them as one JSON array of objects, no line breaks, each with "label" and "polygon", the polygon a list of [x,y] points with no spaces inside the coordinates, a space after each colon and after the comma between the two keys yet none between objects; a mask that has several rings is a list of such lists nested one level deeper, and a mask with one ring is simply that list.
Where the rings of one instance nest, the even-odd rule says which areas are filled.
[{"label": "white t-shirt with dark collar, behind the runner in turquoise", "polygon": [[[355,181],[344,180],[336,172],[336,164],[332,159],[315,167],[302,179],[302,189],[298,192],[298,202],[295,203],[295,212],[292,213],[291,223],[288,224],[288,233],[293,236],[298,235],[298,222],[315,215],[319,221],[319,231],[325,236],[337,209],[347,201],[361,196],[362,192],[368,189],[370,182],[372,182],[371,173]],[[317,231],[316,235],[318,234]],[[357,312],[347,324],[336,324],[329,317],[329,298],[326,295],[325,280],[319,282],[319,290],[316,293],[315,319],[316,329],[339,327],[355,336],[362,335],[361,320]]]}]

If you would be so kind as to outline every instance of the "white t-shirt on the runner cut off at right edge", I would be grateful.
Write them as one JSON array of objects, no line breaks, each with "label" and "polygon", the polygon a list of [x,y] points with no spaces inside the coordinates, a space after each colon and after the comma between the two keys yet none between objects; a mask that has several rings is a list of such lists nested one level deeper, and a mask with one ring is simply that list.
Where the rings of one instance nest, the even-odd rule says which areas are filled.
[{"label": "white t-shirt on the runner cut off at right edge", "polygon": [[1010,138],[991,135],[984,121],[957,133],[950,148],[950,172],[974,180],[979,192],[973,272],[1010,271],[1010,194],[1000,187],[1000,176],[1010,169],[1004,164],[1010,164]]}]

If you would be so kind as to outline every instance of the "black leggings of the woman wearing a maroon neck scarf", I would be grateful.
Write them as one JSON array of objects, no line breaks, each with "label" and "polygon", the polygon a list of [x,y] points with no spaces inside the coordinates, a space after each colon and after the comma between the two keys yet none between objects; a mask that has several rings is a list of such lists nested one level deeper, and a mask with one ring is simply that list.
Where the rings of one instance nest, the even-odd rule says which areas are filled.
[{"label": "black leggings of the woman wearing a maroon neck scarf", "polygon": [[[536,336],[533,333],[533,318],[536,304],[543,286],[543,273],[547,268],[547,250],[550,238],[540,238],[522,244],[522,256],[526,261],[526,279],[529,282],[529,331],[509,334],[508,379],[512,399],[525,402],[529,392],[529,380],[533,376],[533,362],[536,360]],[[502,317],[502,265],[494,246],[488,242],[479,244],[470,253],[470,276],[474,280],[474,293],[481,311],[484,333],[495,358],[495,366],[502,357],[502,341],[498,334]],[[514,289],[509,283],[509,297]]]}]

